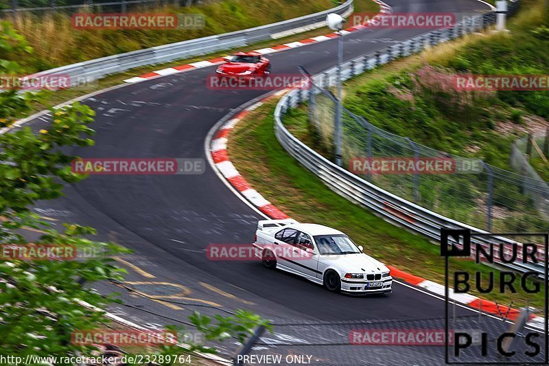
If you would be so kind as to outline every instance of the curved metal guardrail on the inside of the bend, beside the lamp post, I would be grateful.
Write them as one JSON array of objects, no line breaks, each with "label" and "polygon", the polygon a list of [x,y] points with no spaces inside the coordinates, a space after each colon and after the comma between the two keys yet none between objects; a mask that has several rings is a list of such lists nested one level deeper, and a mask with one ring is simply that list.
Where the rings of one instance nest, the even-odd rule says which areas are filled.
[{"label": "curved metal guardrail on the inside of the bend, beside the lamp post", "polygon": [[[517,8],[519,0],[514,1],[512,7]],[[511,7],[510,7],[511,8]],[[409,56],[420,52],[429,45],[436,45],[453,38],[458,38],[463,34],[477,32],[489,25],[495,23],[495,12],[487,12],[476,16],[471,16],[454,27],[444,30],[434,30],[421,36],[410,38],[407,41],[390,45],[377,52],[360,56],[342,65],[342,79],[348,80],[358,73],[373,69],[379,65],[383,65],[390,60],[400,56]],[[328,69],[313,77],[313,83],[318,85],[318,88],[294,89],[285,94],[277,104],[274,111],[274,133],[283,148],[294,157],[297,161],[311,170],[320,178],[325,185],[331,190],[347,198],[353,203],[357,203],[367,207],[381,216],[385,220],[393,224],[411,229],[414,232],[421,233],[432,240],[439,241],[441,238],[441,227],[449,227],[455,229],[471,229],[474,233],[488,233],[487,231],[472,227],[458,222],[450,218],[446,218],[434,211],[425,209],[419,205],[415,205],[410,201],[406,201],[395,194],[391,194],[381,187],[377,187],[372,183],[360,178],[344,168],[332,163],[322,155],[306,146],[303,142],[294,137],[287,128],[283,125],[283,115],[290,109],[298,106],[301,102],[305,102],[309,98],[309,93],[320,93],[323,87],[331,87],[336,84],[336,68]],[[498,243],[503,242],[512,244],[514,241],[507,238],[498,237]],[[484,249],[487,249],[495,242],[491,238],[476,238],[474,243],[480,244]],[[521,243],[516,242],[519,247]],[[498,253],[497,248],[495,253]],[[539,255],[544,255],[543,251],[538,251]],[[498,255],[496,255],[497,257]],[[540,275],[544,273],[544,268],[541,264],[502,264],[502,266],[513,268],[515,271],[537,271]]]}]

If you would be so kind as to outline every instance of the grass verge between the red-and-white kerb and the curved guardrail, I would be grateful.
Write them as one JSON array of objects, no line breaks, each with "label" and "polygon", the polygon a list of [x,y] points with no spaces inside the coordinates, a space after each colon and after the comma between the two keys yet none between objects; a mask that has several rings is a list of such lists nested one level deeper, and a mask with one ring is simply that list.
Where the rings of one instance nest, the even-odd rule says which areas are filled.
[{"label": "grass verge between the red-and-white kerb and the curved guardrail", "polygon": [[[386,264],[444,283],[444,261],[438,245],[338,196],[283,150],[273,131],[275,103],[268,102],[248,113],[229,136],[229,156],[246,181],[292,218],[339,229],[361,244],[365,253]],[[288,127],[302,133],[305,129],[299,124]],[[487,266],[470,260],[452,260],[451,265],[469,273],[482,271],[487,278]],[[495,284],[499,284],[497,279]],[[521,291],[482,297],[507,305],[514,301],[520,306],[527,299],[530,305],[543,305],[542,296]]]}]

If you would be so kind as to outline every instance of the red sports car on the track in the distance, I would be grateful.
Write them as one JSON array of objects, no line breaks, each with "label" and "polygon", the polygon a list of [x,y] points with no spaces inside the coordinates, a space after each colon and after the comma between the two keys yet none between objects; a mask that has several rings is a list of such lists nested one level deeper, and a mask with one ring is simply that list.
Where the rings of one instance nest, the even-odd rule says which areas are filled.
[{"label": "red sports car on the track in the distance", "polygon": [[225,60],[216,70],[218,75],[255,78],[270,74],[270,61],[257,52],[237,52]]}]

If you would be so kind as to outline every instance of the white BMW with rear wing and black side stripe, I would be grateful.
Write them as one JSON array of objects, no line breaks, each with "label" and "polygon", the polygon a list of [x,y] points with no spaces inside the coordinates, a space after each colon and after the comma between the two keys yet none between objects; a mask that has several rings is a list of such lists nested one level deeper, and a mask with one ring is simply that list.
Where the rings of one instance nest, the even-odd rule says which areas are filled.
[{"label": "white BMW with rear wing and black side stripe", "polygon": [[266,268],[301,275],[328,290],[351,294],[390,293],[389,269],[362,246],[331,227],[293,219],[260,220],[254,247]]}]

